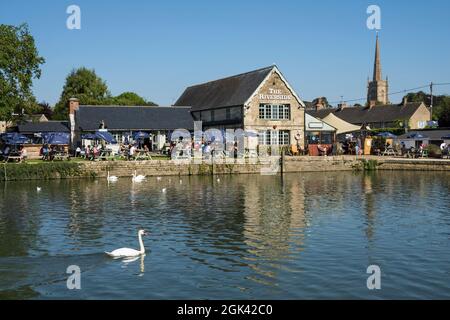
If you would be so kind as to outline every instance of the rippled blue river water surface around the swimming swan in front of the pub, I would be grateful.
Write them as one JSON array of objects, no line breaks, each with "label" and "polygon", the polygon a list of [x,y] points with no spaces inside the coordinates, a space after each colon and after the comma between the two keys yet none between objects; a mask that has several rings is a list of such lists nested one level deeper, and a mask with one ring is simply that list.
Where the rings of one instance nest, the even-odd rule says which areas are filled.
[{"label": "rippled blue river water surface around the swimming swan in front of the pub", "polygon": [[[0,299],[450,298],[449,191],[427,172],[8,182]],[[145,257],[103,253],[140,227]]]}]

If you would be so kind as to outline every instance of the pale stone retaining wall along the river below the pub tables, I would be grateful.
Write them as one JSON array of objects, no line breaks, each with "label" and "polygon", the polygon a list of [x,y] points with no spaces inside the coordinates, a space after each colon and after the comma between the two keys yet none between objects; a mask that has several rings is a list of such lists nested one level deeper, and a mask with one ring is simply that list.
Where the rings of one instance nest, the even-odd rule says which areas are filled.
[{"label": "pale stone retaining wall along the river below the pub tables", "polygon": [[[364,170],[362,160],[372,160],[377,170],[420,170],[420,171],[450,171],[450,160],[433,159],[395,159],[383,157],[285,157],[283,172],[327,172]],[[261,174],[268,172],[278,163],[276,158],[272,162],[262,161],[245,164],[192,164],[177,163],[169,160],[149,161],[109,161],[85,162],[84,170],[98,177],[106,177],[108,170],[111,175],[129,177],[136,170],[137,174],[146,176],[187,176],[211,174]],[[281,170],[281,167],[279,168]]]}]

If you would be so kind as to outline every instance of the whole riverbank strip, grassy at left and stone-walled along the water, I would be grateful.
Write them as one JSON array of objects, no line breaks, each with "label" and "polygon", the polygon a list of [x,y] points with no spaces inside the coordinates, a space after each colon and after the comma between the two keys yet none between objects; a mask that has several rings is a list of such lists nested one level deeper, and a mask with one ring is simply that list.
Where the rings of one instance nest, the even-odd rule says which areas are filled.
[{"label": "whole riverbank strip, grassy at left and stone-walled along the water", "polygon": [[[256,163],[193,164],[172,160],[147,161],[64,161],[4,163],[0,181],[50,180],[69,178],[104,178],[107,172],[118,177],[130,177],[136,170],[146,176],[190,176],[223,174],[266,174],[275,172],[277,159],[260,160]],[[274,167],[275,164],[275,167]],[[278,173],[331,172],[359,170],[417,170],[450,171],[448,159],[406,159],[376,156],[334,156],[334,157],[285,157]]]}]

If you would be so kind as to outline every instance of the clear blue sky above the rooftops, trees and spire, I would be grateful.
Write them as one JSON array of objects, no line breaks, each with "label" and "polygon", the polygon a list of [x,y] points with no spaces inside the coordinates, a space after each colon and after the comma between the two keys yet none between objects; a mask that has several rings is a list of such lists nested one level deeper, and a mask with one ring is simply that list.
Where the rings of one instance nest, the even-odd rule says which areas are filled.
[{"label": "clear blue sky above the rooftops, trees and spire", "polygon": [[[66,26],[70,5],[80,7],[79,30]],[[113,95],[133,91],[171,105],[187,86],[272,64],[301,99],[338,102],[366,96],[376,37],[369,5],[381,10],[391,92],[450,82],[448,0],[0,0],[0,23],[28,23],[46,60],[33,91],[50,104],[82,66]]]}]

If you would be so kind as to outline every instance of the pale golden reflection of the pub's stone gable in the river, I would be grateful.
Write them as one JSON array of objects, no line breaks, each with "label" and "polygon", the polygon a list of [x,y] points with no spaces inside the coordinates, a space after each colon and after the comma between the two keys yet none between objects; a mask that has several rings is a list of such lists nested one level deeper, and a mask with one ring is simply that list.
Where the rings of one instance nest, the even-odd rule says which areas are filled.
[{"label": "pale golden reflection of the pub's stone gable in the river", "polygon": [[[305,183],[297,175],[284,180],[255,177],[244,193],[244,241],[248,265],[268,282],[276,278],[283,260],[303,250],[305,228]],[[270,282],[272,282],[270,281]]]}]

